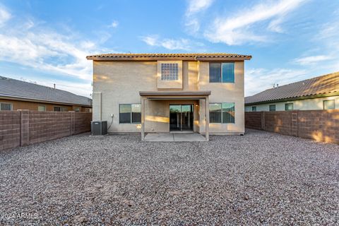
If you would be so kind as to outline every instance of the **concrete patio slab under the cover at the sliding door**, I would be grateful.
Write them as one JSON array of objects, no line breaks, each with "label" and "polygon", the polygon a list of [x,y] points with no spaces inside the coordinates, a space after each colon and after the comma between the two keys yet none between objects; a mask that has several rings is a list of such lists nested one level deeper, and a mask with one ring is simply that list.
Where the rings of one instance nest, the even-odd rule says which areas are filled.
[{"label": "concrete patio slab under the cover at the sliding door", "polygon": [[199,133],[148,133],[145,141],[153,142],[174,142],[174,141],[206,141],[206,138]]}]

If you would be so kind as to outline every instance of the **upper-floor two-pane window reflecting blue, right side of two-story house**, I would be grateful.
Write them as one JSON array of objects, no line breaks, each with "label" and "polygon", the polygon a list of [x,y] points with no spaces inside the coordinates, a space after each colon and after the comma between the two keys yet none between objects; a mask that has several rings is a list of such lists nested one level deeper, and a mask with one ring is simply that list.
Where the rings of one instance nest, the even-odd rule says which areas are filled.
[{"label": "upper-floor two-pane window reflecting blue, right side of two-story house", "polygon": [[234,83],[234,63],[210,63],[210,83]]}]

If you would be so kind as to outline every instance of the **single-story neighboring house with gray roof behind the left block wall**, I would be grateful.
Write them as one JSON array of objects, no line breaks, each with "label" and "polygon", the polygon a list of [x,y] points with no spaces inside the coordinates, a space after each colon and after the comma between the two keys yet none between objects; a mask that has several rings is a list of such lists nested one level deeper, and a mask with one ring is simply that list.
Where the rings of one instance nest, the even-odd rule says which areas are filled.
[{"label": "single-story neighboring house with gray roof behind the left block wall", "polygon": [[0,110],[91,112],[92,100],[64,90],[0,76]]}]

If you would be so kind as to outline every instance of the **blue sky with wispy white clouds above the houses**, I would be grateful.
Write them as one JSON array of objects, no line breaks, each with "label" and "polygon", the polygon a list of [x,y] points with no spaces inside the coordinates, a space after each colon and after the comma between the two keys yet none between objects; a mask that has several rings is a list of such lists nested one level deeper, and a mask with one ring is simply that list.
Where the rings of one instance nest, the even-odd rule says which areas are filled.
[{"label": "blue sky with wispy white clouds above the houses", "polygon": [[339,1],[0,0],[0,75],[90,96],[86,55],[230,52],[245,94],[339,71]]}]

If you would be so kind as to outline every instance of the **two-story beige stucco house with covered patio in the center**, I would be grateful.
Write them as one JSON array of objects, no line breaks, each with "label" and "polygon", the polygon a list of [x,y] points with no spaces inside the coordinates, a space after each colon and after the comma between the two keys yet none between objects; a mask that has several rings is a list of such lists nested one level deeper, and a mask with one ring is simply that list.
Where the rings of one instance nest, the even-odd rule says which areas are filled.
[{"label": "two-story beige stucco house with covered patio in the center", "polygon": [[143,139],[145,133],[194,131],[206,133],[207,140],[209,133],[244,133],[244,60],[251,56],[100,54],[87,59],[93,60],[93,120],[108,126],[112,120],[111,133],[141,132]]}]

